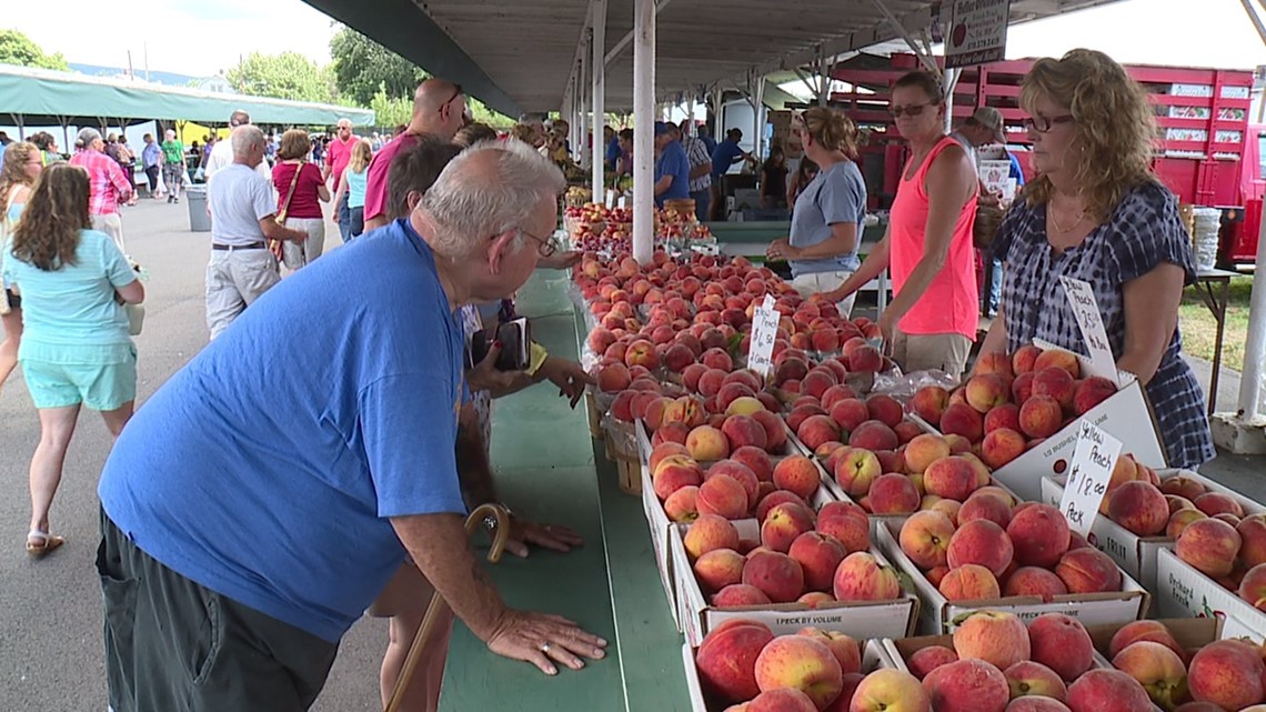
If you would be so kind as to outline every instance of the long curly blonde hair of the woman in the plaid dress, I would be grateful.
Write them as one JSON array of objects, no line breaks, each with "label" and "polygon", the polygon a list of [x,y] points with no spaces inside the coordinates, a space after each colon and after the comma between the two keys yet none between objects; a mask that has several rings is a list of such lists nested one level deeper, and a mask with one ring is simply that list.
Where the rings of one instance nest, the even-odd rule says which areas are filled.
[{"label": "long curly blonde hair of the woman in the plaid dress", "polygon": [[[1058,60],[1038,60],[1020,85],[1020,106],[1032,114],[1041,96],[1072,114],[1074,181],[1086,198],[1086,215],[1108,219],[1125,193],[1156,181],[1156,115],[1147,91],[1112,57],[1072,49]],[[1024,199],[1042,204],[1051,191],[1051,180],[1038,176],[1024,188]]]}]

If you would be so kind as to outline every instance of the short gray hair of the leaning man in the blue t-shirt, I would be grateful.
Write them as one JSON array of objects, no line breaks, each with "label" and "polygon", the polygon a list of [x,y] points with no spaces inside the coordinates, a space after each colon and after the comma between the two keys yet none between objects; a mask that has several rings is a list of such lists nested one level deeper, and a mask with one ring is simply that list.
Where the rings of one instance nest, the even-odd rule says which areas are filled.
[{"label": "short gray hair of the leaning man in the blue t-shirt", "polygon": [[[422,199],[436,227],[430,247],[465,257],[484,239],[519,228],[541,200],[557,200],[566,188],[558,166],[522,141],[476,143],[444,167]],[[515,248],[522,242],[517,236]]]}]

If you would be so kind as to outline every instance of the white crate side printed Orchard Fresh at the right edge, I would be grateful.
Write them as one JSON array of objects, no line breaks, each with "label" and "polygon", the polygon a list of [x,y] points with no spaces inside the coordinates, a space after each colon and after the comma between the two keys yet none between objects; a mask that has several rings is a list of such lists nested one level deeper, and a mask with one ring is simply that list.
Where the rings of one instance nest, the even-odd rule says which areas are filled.
[{"label": "white crate side printed Orchard Fresh at the right edge", "polygon": [[1156,554],[1156,599],[1166,618],[1219,618],[1222,637],[1266,641],[1266,612],[1201,574],[1169,549]]}]

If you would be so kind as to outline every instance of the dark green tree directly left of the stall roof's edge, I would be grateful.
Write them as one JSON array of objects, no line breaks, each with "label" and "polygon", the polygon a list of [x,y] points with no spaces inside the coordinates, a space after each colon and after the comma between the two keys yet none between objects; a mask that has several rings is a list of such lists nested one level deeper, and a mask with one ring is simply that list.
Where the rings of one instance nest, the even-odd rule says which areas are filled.
[{"label": "dark green tree directly left of the stall roof's edge", "polygon": [[427,72],[368,37],[344,27],[329,41],[334,80],[339,91],[371,106],[380,91],[387,99],[413,99]]}]

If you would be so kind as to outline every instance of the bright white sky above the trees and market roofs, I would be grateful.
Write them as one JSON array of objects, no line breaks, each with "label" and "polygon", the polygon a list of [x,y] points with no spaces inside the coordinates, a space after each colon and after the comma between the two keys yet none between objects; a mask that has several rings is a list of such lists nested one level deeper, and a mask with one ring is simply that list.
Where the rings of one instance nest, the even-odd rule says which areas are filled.
[{"label": "bright white sky above the trees and market roofs", "polygon": [[[97,15],[89,0],[58,0],[57,18]],[[137,5],[125,3],[127,5]],[[329,61],[334,28],[328,16],[301,0],[158,0],[152,13],[124,10],[127,33],[94,23],[51,23],[38,13],[6,13],[0,27],[27,33],[46,52],[71,62],[133,66],[210,76],[260,51],[296,51]],[[114,10],[119,10],[118,6]],[[1060,56],[1074,47],[1101,49],[1124,63],[1251,68],[1266,65],[1239,0],[1122,0],[1103,8],[1017,25],[1008,35],[1008,57]]]}]

